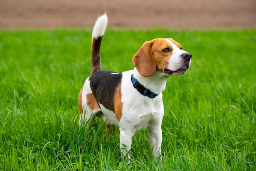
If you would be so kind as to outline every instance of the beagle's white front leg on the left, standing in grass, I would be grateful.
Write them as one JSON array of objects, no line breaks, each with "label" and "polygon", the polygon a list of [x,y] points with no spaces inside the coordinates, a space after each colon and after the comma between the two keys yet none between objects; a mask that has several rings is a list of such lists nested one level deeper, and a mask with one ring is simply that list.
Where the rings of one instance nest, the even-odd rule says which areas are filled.
[{"label": "beagle's white front leg on the left, standing in grass", "polygon": [[[127,155],[127,152],[131,149],[131,139],[133,137],[133,133],[129,131],[123,131],[120,129],[120,150],[121,157],[124,158]],[[130,155],[127,155],[128,159],[131,159]]]}]

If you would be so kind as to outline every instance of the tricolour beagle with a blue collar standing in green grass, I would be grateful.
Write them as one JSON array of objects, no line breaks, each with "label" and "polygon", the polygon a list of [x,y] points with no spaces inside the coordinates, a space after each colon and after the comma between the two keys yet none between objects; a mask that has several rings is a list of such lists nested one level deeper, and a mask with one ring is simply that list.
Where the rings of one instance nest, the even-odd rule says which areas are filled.
[{"label": "tricolour beagle with a blue collar standing in green grass", "polygon": [[172,38],[157,38],[146,41],[133,56],[134,70],[102,70],[100,46],[107,23],[107,14],[103,14],[93,27],[91,75],[79,93],[79,125],[92,125],[100,117],[107,127],[119,128],[121,156],[128,159],[134,133],[148,128],[155,158],[161,153],[162,91],[167,78],[186,73],[192,55]]}]

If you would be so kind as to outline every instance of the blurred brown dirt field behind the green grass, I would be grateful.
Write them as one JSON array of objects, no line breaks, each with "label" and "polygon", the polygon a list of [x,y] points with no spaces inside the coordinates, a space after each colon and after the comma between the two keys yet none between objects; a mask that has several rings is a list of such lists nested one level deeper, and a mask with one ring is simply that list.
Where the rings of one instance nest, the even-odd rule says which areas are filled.
[{"label": "blurred brown dirt field behind the green grass", "polygon": [[256,0],[0,0],[0,29],[91,28],[105,11],[114,28],[256,27]]}]

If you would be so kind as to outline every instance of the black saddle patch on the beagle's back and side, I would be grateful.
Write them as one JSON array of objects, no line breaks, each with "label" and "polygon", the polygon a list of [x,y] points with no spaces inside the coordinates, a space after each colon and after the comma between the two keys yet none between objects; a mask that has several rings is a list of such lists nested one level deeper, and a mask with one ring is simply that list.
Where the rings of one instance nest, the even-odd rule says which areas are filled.
[{"label": "black saddle patch on the beagle's back and side", "polygon": [[[113,74],[114,73],[114,74]],[[108,110],[115,111],[114,97],[122,80],[122,72],[99,70],[90,76],[90,87],[97,101]]]}]

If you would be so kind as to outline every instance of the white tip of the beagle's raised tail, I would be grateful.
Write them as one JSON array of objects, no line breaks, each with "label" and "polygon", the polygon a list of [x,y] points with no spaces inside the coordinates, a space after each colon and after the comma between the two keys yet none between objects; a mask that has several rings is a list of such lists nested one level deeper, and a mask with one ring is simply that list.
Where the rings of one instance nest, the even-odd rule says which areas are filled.
[{"label": "white tip of the beagle's raised tail", "polygon": [[108,24],[107,14],[105,13],[99,16],[93,27],[93,34],[92,34],[93,38],[98,38],[100,36],[103,36],[105,29],[107,27],[107,24]]}]

